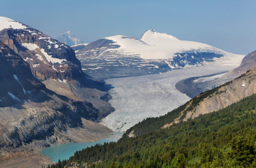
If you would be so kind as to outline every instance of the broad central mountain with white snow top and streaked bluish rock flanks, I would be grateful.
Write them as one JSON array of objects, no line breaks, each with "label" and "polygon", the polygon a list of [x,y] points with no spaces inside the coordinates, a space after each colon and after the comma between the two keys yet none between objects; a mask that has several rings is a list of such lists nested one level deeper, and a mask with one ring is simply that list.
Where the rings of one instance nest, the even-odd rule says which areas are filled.
[{"label": "broad central mountain with white snow top and streaked bluish rock flanks", "polygon": [[84,72],[105,79],[164,73],[207,64],[239,66],[244,55],[148,30],[140,39],[116,35],[96,40],[80,49],[76,57]]}]

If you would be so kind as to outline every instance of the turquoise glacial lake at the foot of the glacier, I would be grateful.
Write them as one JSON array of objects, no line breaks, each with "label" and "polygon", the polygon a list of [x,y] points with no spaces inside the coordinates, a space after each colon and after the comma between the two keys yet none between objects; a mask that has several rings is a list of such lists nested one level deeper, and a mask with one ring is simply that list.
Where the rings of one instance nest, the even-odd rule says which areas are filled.
[{"label": "turquoise glacial lake at the foot of the glacier", "polygon": [[76,151],[83,150],[83,148],[94,146],[95,144],[103,144],[104,142],[117,142],[122,137],[120,132],[113,132],[108,138],[99,139],[97,142],[83,142],[83,143],[65,143],[57,144],[56,146],[47,147],[40,153],[47,157],[51,157],[51,161],[58,162],[60,159],[65,160],[74,156]]}]

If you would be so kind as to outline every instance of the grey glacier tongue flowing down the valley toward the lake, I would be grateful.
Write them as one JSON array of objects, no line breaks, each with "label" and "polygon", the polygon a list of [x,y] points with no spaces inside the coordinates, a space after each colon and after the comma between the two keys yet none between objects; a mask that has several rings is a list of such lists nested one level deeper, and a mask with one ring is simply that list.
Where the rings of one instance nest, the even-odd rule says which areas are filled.
[{"label": "grey glacier tongue flowing down the valley toward the lake", "polygon": [[227,72],[233,68],[235,67],[203,66],[163,74],[106,80],[107,85],[113,86],[109,91],[113,97],[109,103],[116,110],[100,124],[115,132],[125,132],[145,118],[164,115],[189,101],[189,94],[184,94],[184,91],[182,93],[175,87],[178,82],[191,77]]}]

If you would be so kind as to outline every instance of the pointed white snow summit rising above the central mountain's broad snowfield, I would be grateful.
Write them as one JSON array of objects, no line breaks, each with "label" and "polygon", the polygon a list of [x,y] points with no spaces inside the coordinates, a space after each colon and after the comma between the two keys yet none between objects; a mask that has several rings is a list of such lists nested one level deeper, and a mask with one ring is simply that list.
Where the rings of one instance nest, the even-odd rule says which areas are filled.
[{"label": "pointed white snow summit rising above the central mountain's broad snowfield", "polygon": [[148,43],[150,45],[156,45],[157,41],[166,41],[166,40],[179,40],[175,36],[168,35],[166,33],[157,32],[154,29],[146,31],[143,36],[140,38],[141,41]]}]

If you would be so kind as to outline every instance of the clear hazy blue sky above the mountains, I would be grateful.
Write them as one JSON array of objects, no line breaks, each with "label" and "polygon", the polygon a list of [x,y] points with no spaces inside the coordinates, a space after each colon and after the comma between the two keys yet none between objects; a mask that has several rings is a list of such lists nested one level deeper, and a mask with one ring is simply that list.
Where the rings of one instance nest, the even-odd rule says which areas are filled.
[{"label": "clear hazy blue sky above the mountains", "polygon": [[56,38],[68,30],[85,43],[148,29],[235,54],[256,50],[256,1],[1,0],[0,16]]}]

